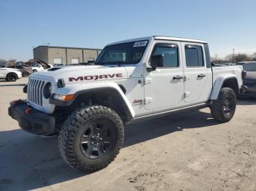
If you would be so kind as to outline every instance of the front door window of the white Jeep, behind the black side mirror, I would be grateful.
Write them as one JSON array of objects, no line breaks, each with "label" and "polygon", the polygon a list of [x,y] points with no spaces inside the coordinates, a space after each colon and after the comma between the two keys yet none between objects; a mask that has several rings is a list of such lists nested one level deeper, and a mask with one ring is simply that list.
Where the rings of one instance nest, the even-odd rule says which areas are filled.
[{"label": "front door window of the white Jeep, behind the black side mirror", "polygon": [[176,44],[157,44],[152,55],[162,55],[164,57],[165,68],[178,67],[178,47]]}]

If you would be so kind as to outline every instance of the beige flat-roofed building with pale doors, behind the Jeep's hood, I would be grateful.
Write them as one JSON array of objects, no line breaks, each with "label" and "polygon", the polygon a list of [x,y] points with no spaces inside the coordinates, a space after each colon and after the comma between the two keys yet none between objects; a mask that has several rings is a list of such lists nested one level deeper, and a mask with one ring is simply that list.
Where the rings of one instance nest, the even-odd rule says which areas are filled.
[{"label": "beige flat-roofed building with pale doors, behind the Jeep's hood", "polygon": [[91,48],[52,46],[38,46],[33,49],[34,59],[50,64],[88,63],[97,58],[100,51],[100,49]]}]

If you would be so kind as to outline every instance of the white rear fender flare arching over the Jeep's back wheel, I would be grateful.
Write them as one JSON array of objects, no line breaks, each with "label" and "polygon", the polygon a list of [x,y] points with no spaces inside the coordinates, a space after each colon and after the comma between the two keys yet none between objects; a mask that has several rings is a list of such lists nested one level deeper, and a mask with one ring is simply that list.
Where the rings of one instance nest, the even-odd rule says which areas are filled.
[{"label": "white rear fender flare arching over the Jeep's back wheel", "polygon": [[214,83],[214,87],[211,92],[210,100],[217,100],[219,97],[219,91],[222,87],[230,87],[234,90],[236,95],[239,94],[239,85],[236,75],[221,76],[218,77]]}]

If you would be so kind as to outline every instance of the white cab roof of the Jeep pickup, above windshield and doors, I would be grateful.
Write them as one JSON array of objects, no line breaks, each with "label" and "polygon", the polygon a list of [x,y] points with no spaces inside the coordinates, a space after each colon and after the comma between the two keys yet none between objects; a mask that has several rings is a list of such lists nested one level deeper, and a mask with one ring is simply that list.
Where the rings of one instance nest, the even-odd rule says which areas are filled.
[{"label": "white cab roof of the Jeep pickup, above windshield and doors", "polygon": [[141,37],[141,38],[136,38],[136,39],[127,39],[124,41],[119,41],[119,42],[113,42],[111,44],[119,44],[119,43],[124,43],[124,42],[132,42],[132,41],[141,41],[141,40],[169,40],[169,41],[180,41],[180,42],[197,42],[197,43],[203,43],[206,44],[207,42],[198,40],[198,39],[189,39],[189,38],[181,38],[181,37],[172,37],[172,36],[146,36],[146,37]]}]

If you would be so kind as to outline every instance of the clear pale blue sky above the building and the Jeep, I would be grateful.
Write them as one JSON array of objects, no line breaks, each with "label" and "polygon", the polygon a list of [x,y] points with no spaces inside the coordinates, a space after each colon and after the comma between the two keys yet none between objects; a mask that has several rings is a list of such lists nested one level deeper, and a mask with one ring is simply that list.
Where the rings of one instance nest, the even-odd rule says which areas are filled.
[{"label": "clear pale blue sky above the building and the Jeep", "polygon": [[211,56],[256,52],[255,0],[0,0],[0,58],[33,47],[103,48],[142,36],[202,39]]}]

